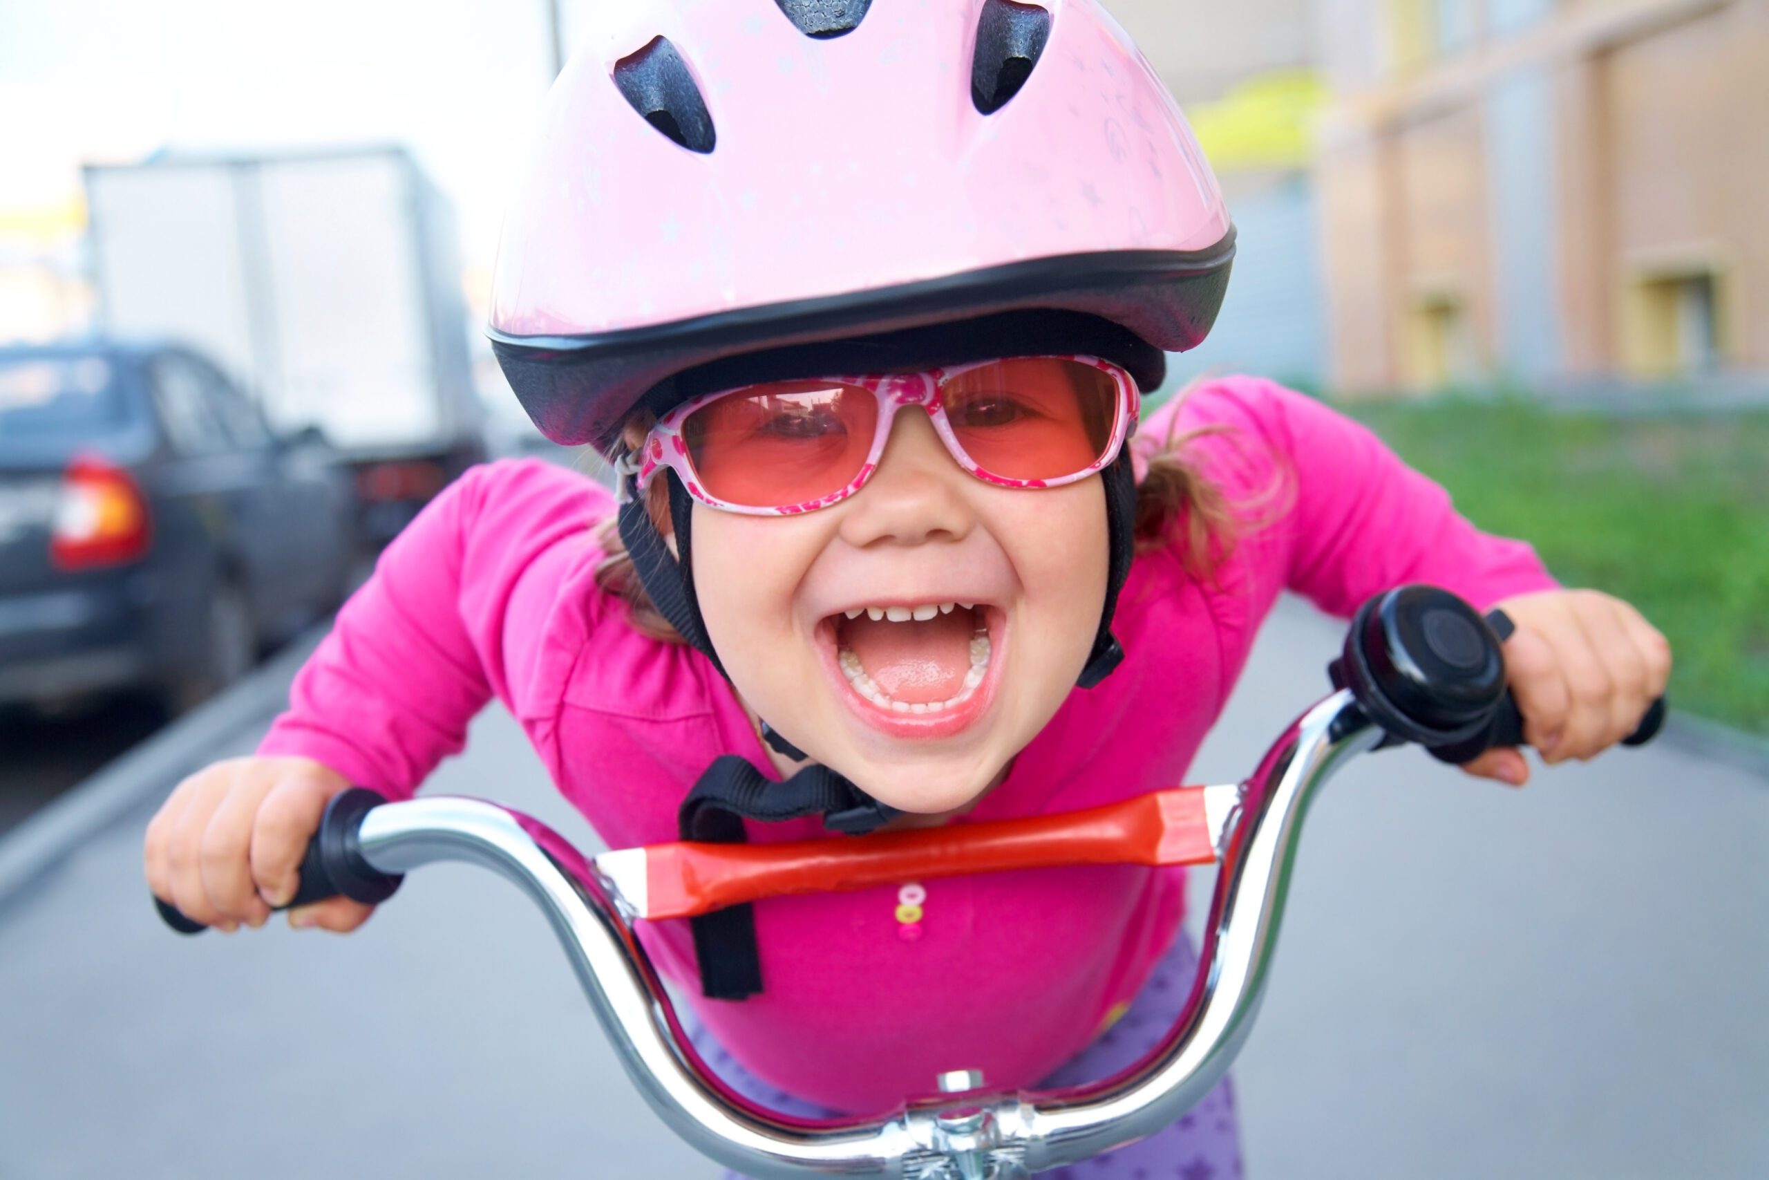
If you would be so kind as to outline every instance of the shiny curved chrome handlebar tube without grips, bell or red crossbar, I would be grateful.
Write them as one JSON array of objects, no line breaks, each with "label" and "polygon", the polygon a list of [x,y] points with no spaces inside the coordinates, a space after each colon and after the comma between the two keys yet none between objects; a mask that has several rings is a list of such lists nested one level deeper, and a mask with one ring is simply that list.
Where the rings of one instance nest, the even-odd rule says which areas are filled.
[{"label": "shiny curved chrome handlebar tube without grips, bell or red crossbar", "polygon": [[633,1084],[670,1130],[720,1164],[755,1180],[1014,1180],[1160,1130],[1228,1072],[1260,1007],[1309,801],[1382,738],[1341,690],[1291,724],[1240,785],[1222,817],[1199,984],[1136,1069],[1065,1092],[923,1099],[888,1120],[807,1122],[720,1083],[688,1044],[619,890],[527,816],[465,798],[387,803],[363,817],[359,847],[387,874],[465,860],[517,883],[552,923]]}]

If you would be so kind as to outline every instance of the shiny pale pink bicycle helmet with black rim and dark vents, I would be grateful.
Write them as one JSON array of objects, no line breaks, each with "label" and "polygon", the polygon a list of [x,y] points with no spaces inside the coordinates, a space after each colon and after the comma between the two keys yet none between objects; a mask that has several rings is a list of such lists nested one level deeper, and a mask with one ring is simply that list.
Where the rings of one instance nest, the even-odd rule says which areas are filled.
[{"label": "shiny pale pink bicycle helmet with black rim and dark vents", "polygon": [[[1173,97],[1095,0],[621,0],[548,99],[490,334],[555,442],[616,448],[739,354],[1026,310],[1145,389],[1235,253]],[[1079,313],[1079,315],[1077,315]]]}]

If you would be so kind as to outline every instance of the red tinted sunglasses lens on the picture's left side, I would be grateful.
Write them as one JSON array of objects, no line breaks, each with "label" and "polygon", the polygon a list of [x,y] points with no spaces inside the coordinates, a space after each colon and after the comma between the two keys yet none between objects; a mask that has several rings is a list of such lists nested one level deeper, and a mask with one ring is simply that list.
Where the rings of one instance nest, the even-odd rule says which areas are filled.
[{"label": "red tinted sunglasses lens on the picture's left side", "polygon": [[741,508],[808,506],[860,476],[879,403],[828,380],[750,386],[708,402],[681,425],[708,495]]}]

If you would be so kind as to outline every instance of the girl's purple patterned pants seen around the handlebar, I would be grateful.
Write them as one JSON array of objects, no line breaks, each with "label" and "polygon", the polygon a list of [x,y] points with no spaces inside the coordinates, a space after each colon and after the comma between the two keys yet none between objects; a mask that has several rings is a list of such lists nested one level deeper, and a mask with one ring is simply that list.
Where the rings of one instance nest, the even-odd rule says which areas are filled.
[{"label": "girl's purple patterned pants seen around the handlebar", "polygon": [[[1180,1015],[1198,973],[1198,955],[1182,932],[1155,966],[1130,1010],[1079,1056],[1044,1079],[1040,1088],[1079,1086],[1111,1077],[1155,1047]],[[800,1118],[830,1118],[830,1111],[775,1090],[743,1069],[704,1030],[690,1030],[693,1047],[725,1084],[750,1099]],[[1099,1155],[1084,1164],[1038,1173],[1047,1180],[1240,1180],[1240,1141],[1235,1134],[1235,1095],[1224,1077],[1180,1122],[1141,1143]],[[724,1180],[743,1180],[727,1171]]]}]

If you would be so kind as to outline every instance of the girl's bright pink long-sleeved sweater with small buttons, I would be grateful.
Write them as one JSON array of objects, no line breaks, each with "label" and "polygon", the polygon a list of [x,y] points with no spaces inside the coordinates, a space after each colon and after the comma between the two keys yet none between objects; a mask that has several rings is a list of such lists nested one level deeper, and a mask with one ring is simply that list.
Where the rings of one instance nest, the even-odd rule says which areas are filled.
[{"label": "girl's bright pink long-sleeved sweater with small buttons", "polygon": [[[1229,426],[1192,444],[1206,476],[1252,501],[1217,584],[1175,552],[1139,556],[1114,630],[1129,653],[1074,690],[973,812],[1072,810],[1180,784],[1279,591],[1346,616],[1401,582],[1477,607],[1551,587],[1528,545],[1486,536],[1355,423],[1252,379],[1194,391],[1143,423]],[[1268,495],[1274,479],[1279,495]],[[1267,494],[1261,497],[1261,494]],[[306,755],[393,798],[462,748],[492,697],[559,791],[612,847],[676,839],[676,808],[720,754],[770,762],[731,686],[688,647],[646,639],[596,589],[612,497],[541,462],[479,467],[386,550],[295,679],[262,754]],[[1298,667],[1300,681],[1320,679]],[[819,835],[750,824],[755,842]],[[1033,1084],[1130,1000],[1183,913],[1182,870],[1084,867],[927,883],[923,936],[899,938],[897,890],[755,906],[762,994],[699,996],[686,922],[644,941],[665,977],[762,1079],[842,1111],[877,1111],[948,1069]]]}]

